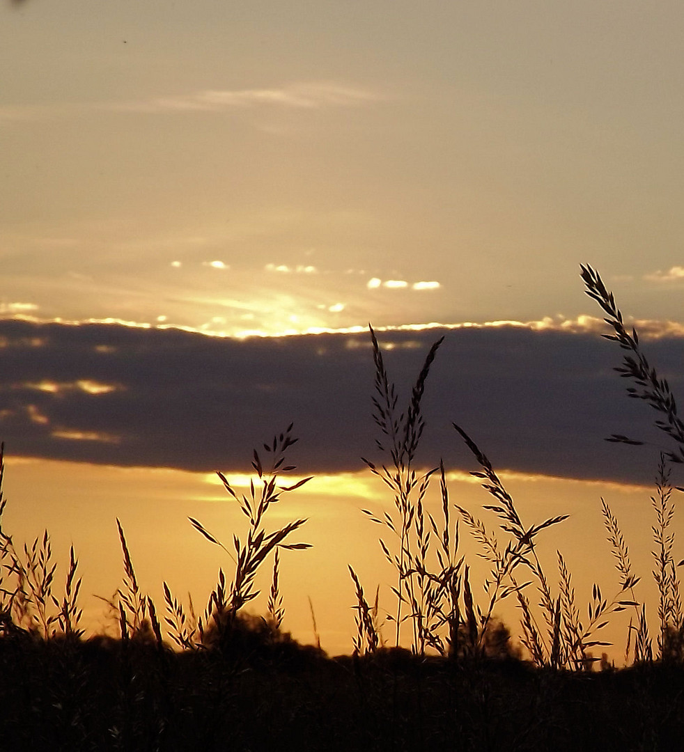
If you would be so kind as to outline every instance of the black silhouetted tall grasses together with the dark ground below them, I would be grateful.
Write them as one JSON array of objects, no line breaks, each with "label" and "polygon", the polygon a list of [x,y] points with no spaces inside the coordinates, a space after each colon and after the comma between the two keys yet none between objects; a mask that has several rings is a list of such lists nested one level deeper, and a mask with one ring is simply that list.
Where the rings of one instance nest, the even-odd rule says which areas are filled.
[{"label": "black silhouetted tall grasses together with the dark ground below them", "polygon": [[[231,561],[230,578],[220,569],[201,614],[166,583],[165,610],[157,610],[138,586],[117,520],[123,583],[106,600],[116,636],[86,639],[73,547],[58,595],[47,531],[19,546],[0,526],[0,750],[682,748],[684,609],[677,569],[684,562],[675,563],[671,530],[672,495],[681,489],[670,484],[670,466],[684,461],[684,423],[667,381],[649,364],[637,332],[626,329],[599,275],[582,267],[582,278],[606,313],[613,332],[607,338],[627,353],[616,370],[631,384],[628,394],[655,409],[655,425],[670,441],[670,450],[661,451],[652,497],[655,629],[639,598],[628,545],[605,501],[606,538],[619,584],[610,597],[594,584],[586,609],[580,609],[562,553],[553,578],[537,555],[537,536],[555,529],[565,515],[521,520],[492,463],[461,426],[454,429],[478,464],[472,475],[488,493],[483,510],[494,520],[494,532],[450,501],[441,462],[427,471],[415,468],[424,429],[421,398],[441,340],[427,354],[409,405],[399,413],[371,329],[373,417],[381,434],[377,449],[386,461],[365,462],[391,490],[394,506],[391,512],[363,512],[382,529],[380,549],[396,581],[388,608],[379,588],[374,598],[366,596],[349,566],[357,626],[351,656],[330,658],[281,629],[279,551],[308,547],[291,541],[306,520],[275,530],[266,524],[269,508],[310,480],[283,484],[295,469],[286,461],[296,441],[289,426],[263,451],[254,451],[256,476],[248,494],[237,494],[219,474],[229,500],[245,515],[246,532],[235,533],[226,547],[190,519]],[[610,441],[641,443],[623,435]],[[424,504],[433,479],[439,483],[439,514]],[[4,507],[0,491],[0,517]],[[459,524],[491,567],[482,587],[471,587]],[[266,562],[272,566],[267,614],[248,616],[245,606],[258,595],[257,572]],[[515,599],[521,615],[520,649],[495,616],[506,598]],[[602,630],[618,611],[632,614],[625,640],[631,666],[619,670],[605,654],[596,656],[608,644]]]}]

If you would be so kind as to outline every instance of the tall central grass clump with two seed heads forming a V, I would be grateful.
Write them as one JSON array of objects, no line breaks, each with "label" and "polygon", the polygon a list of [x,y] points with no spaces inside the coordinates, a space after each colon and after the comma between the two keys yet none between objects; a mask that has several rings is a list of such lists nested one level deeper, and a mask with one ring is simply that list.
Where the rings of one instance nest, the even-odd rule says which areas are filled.
[{"label": "tall central grass clump with two seed heads forming a V", "polygon": [[[388,543],[384,536],[379,538],[385,559],[397,572],[397,584],[391,587],[397,607],[393,614],[388,614],[387,620],[394,623],[396,646],[400,644],[402,625],[408,622],[414,653],[423,654],[430,647],[442,655],[456,654],[461,627],[458,599],[464,594],[463,559],[457,561],[458,521],[451,523],[443,463],[424,473],[416,472],[412,465],[424,431],[421,400],[425,384],[444,338],[430,347],[412,388],[409,405],[399,414],[397,389],[388,377],[382,349],[372,327],[370,336],[375,362],[373,419],[382,434],[375,443],[379,450],[389,453],[391,463],[377,465],[365,458],[363,462],[393,493],[394,514],[362,511],[394,538],[394,544]],[[425,506],[430,480],[438,470],[442,496],[439,524]]]}]

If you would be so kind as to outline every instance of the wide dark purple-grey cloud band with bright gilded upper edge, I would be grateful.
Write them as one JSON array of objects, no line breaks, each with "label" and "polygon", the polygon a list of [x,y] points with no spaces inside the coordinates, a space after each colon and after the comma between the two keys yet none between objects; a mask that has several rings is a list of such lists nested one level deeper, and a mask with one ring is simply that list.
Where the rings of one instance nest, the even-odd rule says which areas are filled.
[{"label": "wide dark purple-grey cloud band with bright gilded upper edge", "polygon": [[[603,328],[605,331],[605,325]],[[591,327],[488,325],[378,331],[406,409],[424,355],[430,368],[418,462],[451,471],[476,462],[451,426],[494,467],[567,478],[649,482],[667,437],[652,411],[625,399],[619,348]],[[0,438],[15,456],[210,472],[249,472],[261,447],[291,421],[305,474],[382,462],[372,420],[375,371],[367,332],[220,338],[121,323],[0,320]],[[675,394],[684,390],[682,333],[646,340]],[[603,441],[622,433],[653,445]],[[681,481],[676,481],[681,482]]]}]

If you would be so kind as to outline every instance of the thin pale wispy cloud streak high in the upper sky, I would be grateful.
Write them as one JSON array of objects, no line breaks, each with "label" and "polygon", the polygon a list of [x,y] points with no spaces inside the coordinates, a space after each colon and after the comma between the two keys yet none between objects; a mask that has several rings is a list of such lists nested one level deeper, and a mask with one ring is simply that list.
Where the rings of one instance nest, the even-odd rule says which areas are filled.
[{"label": "thin pale wispy cloud streak high in the upper sky", "polygon": [[272,89],[208,89],[178,96],[123,102],[108,108],[138,112],[220,112],[236,108],[316,110],[348,108],[378,102],[382,96],[369,89],[337,83],[290,83]]}]

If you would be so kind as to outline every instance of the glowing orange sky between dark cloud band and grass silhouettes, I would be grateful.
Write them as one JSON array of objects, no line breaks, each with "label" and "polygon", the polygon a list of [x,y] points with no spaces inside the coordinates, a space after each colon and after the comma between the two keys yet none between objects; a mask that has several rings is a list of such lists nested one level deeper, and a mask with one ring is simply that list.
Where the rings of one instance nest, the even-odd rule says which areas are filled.
[{"label": "glowing orange sky between dark cloud band and grass silhouettes", "polygon": [[[635,572],[643,578],[640,593],[652,595],[651,489],[505,470],[499,475],[528,523],[538,523],[552,514],[570,514],[570,520],[562,526],[546,536],[540,535],[540,556],[552,584],[557,580],[555,549],[559,547],[573,573],[580,604],[588,598],[596,579],[604,592],[615,589],[618,575],[612,568],[612,554],[600,516],[600,497],[604,496],[619,517]],[[248,491],[249,476],[226,472],[226,477],[239,492]],[[302,477],[293,475],[287,482]],[[258,488],[258,478],[254,480]],[[439,520],[442,514],[439,484],[433,483],[431,489],[426,499],[427,509]],[[481,517],[488,529],[496,529],[494,518],[482,510],[490,497],[479,488],[476,478],[449,472],[448,489],[451,502]],[[3,529],[14,536],[15,543],[30,542],[47,527],[62,568],[59,572],[64,571],[68,546],[74,543],[84,577],[84,606],[96,629],[102,625],[102,605],[91,594],[111,594],[119,587],[123,572],[115,517],[120,518],[126,531],[141,587],[148,590],[157,608],[162,610],[163,581],[169,582],[179,596],[190,590],[197,604],[208,596],[219,566],[230,574],[230,561],[225,553],[194,531],[187,517],[199,519],[226,545],[232,541],[233,533],[245,532],[245,517],[213,474],[8,456],[5,496],[8,506]],[[360,513],[362,508],[375,514],[394,511],[391,494],[367,471],[317,476],[291,494],[284,494],[268,514],[273,529],[286,519],[309,520],[296,537],[312,543],[312,549],[285,551],[282,556],[285,626],[302,641],[312,641],[308,603],[311,596],[324,647],[332,653],[348,651],[351,645],[353,588],[347,564],[354,566],[367,590],[374,591],[375,584],[380,584],[381,603],[391,604],[388,587],[392,575],[377,541],[382,536],[393,545],[392,538],[381,526],[370,523]],[[682,530],[679,520],[676,529]],[[477,547],[464,526],[461,526],[461,550],[473,572],[484,577],[486,569],[482,569]],[[58,582],[61,576],[58,575]],[[265,590],[268,581],[269,573],[264,572],[260,584]],[[254,608],[258,611],[262,607],[260,599]],[[501,613],[515,632],[518,616],[513,604]],[[622,616],[615,617],[613,632],[606,630],[606,635],[610,632],[616,643],[620,642],[616,654],[624,650],[626,622],[623,621]]]}]

